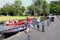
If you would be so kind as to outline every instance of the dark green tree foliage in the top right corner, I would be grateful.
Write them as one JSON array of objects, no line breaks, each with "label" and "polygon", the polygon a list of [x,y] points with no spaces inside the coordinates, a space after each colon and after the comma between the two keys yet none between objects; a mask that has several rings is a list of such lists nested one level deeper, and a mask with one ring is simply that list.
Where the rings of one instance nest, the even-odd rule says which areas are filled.
[{"label": "dark green tree foliage in the top right corner", "polygon": [[60,2],[59,1],[51,1],[50,13],[60,14]]}]

